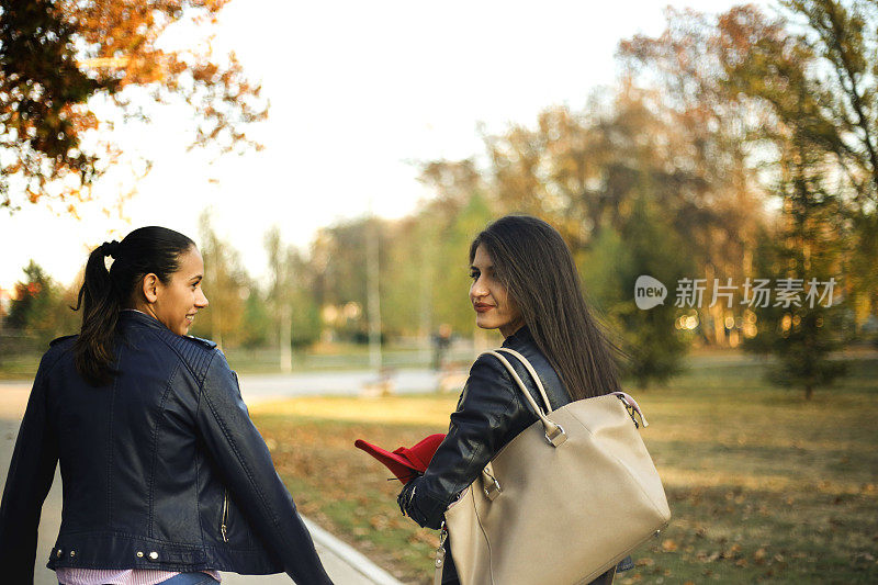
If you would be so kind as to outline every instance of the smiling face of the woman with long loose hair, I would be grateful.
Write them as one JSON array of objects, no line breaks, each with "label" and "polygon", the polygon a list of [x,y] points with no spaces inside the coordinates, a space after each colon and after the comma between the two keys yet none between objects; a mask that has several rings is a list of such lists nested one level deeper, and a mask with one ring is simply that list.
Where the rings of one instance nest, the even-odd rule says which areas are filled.
[{"label": "smiling face of the woman with long loose hair", "polygon": [[470,267],[473,284],[470,301],[475,310],[475,324],[482,329],[499,329],[509,337],[524,325],[521,312],[509,299],[506,286],[494,273],[494,262],[483,245],[475,249]]}]

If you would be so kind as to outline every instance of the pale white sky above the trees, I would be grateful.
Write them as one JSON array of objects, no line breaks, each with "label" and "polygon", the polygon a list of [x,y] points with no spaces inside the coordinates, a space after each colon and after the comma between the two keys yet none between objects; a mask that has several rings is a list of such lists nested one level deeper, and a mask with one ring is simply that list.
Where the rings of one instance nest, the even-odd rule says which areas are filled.
[{"label": "pale white sky above the trees", "polygon": [[619,41],[660,34],[668,3],[722,12],[742,2],[234,0],[214,47],[235,50],[261,80],[270,119],[254,135],[266,149],[211,167],[185,151],[189,128],[175,108],[149,125],[117,126],[128,153],[155,162],[124,207],[130,222],[100,211],[124,187],[112,175],[79,221],[45,205],[0,212],[0,288],[31,258],[70,283],[91,247],[143,225],[198,240],[207,206],[248,272],[263,277],[272,225],[306,247],[317,228],[368,213],[370,201],[378,215],[406,215],[431,194],[413,161],[482,154],[480,123],[502,132],[550,105],[583,108],[615,82]]}]

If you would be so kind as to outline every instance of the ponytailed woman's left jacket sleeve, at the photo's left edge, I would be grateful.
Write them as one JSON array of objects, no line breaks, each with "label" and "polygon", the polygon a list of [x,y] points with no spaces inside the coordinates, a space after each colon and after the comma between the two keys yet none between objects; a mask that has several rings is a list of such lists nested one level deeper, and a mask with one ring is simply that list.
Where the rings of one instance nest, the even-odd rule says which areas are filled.
[{"label": "ponytailed woman's left jacket sleeve, at the photo's left edge", "polygon": [[33,583],[40,515],[58,462],[57,435],[47,418],[47,369],[44,357],[27,400],[0,504],[0,571],[4,583]]}]

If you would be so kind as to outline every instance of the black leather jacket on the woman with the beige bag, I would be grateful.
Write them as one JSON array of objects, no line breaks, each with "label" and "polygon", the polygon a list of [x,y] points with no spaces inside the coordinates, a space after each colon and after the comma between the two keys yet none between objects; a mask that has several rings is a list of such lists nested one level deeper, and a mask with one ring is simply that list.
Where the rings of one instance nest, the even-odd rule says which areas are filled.
[{"label": "black leather jacket on the woman with the beige bag", "polygon": [[[527,326],[507,337],[503,347],[518,351],[533,365],[553,410],[571,402],[566,387]],[[539,404],[539,392],[525,365],[511,356],[505,357]],[[404,488],[401,506],[406,515],[423,527],[438,529],[449,504],[475,481],[497,451],[538,419],[499,360],[481,356],[470,370],[457,410],[451,415],[448,435],[427,471]],[[618,571],[631,566],[631,558],[627,556]],[[451,563],[447,563],[446,574],[450,567]]]}]

